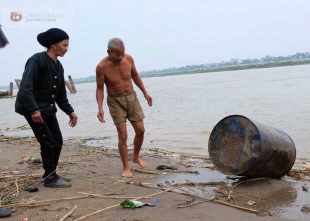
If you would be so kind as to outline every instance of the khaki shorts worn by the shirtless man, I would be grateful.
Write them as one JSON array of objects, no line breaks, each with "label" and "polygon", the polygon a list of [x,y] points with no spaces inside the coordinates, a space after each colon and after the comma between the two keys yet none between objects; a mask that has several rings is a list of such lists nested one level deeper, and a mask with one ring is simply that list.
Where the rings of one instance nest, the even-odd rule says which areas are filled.
[{"label": "khaki shorts worn by the shirtless man", "polygon": [[135,91],[123,95],[107,95],[106,102],[114,124],[125,122],[126,118],[139,121],[145,117]]}]

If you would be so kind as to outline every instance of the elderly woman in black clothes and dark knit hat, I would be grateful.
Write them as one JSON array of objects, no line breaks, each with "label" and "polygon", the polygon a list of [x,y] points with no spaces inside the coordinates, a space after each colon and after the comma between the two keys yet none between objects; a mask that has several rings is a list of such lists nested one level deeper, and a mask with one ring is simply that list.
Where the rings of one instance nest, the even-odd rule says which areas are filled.
[{"label": "elderly woman in black clothes and dark knit hat", "polygon": [[50,28],[37,35],[37,41],[46,51],[35,53],[26,62],[17,92],[15,111],[25,117],[40,143],[44,168],[44,186],[69,187],[70,178],[56,173],[62,135],[56,118],[56,106],[75,126],[77,116],[69,104],[64,85],[63,67],[58,56],[68,50],[69,36],[59,28]]}]

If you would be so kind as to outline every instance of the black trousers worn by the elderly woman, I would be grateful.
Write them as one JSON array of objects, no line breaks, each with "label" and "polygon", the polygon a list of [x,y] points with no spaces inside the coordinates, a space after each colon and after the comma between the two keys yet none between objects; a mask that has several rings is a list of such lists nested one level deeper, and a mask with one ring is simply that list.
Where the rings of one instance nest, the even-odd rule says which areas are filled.
[{"label": "black trousers worn by the elderly woman", "polygon": [[62,147],[62,135],[57,118],[49,115],[43,118],[43,123],[35,123],[30,114],[24,117],[41,145],[41,157],[45,170],[43,178],[54,175]]}]

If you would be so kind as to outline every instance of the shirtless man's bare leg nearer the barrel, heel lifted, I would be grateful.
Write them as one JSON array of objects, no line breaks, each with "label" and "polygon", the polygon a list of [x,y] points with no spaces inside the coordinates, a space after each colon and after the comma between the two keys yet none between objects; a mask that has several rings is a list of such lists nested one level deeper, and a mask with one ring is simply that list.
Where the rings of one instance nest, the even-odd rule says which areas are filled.
[{"label": "shirtless man's bare leg nearer the barrel, heel lifted", "polygon": [[133,156],[131,161],[139,164],[142,168],[147,166],[145,162],[143,162],[140,157],[139,157],[139,152],[143,143],[144,139],[144,123],[143,120],[139,121],[130,121],[131,125],[133,126],[135,136],[133,139]]}]

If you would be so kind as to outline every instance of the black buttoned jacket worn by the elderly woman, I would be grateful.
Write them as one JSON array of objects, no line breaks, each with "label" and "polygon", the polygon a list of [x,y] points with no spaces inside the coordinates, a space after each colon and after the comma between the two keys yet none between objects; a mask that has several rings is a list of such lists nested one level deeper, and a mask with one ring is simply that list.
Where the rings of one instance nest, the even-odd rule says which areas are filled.
[{"label": "black buttoned jacket worn by the elderly woman", "polygon": [[40,110],[53,115],[55,102],[66,114],[73,112],[66,97],[63,67],[45,52],[32,55],[26,62],[15,101],[15,111],[22,115]]}]

